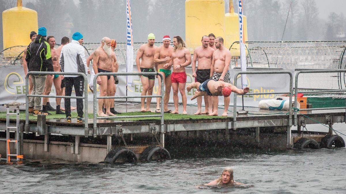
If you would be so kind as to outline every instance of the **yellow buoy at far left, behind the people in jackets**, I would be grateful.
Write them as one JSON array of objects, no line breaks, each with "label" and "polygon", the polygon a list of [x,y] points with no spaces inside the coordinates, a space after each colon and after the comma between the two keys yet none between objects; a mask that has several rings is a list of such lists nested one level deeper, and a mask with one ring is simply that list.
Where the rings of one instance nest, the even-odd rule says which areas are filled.
[{"label": "yellow buoy at far left, behind the people in jackets", "polygon": [[37,12],[23,7],[22,1],[17,0],[17,7],[2,12],[3,48],[29,45],[30,32],[37,29]]}]

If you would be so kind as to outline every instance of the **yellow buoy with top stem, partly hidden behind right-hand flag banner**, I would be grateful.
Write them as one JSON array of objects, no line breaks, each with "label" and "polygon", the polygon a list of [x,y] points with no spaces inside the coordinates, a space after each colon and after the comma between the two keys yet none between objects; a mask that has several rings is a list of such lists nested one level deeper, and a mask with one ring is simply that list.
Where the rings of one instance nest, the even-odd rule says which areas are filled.
[{"label": "yellow buoy with top stem, partly hidden behind right-hand flag banner", "polygon": [[[244,22],[244,38],[247,41],[247,21],[243,15]],[[232,1],[229,2],[229,13],[225,15],[225,46],[227,49],[233,42],[239,42],[239,16],[234,12]],[[246,44],[247,46],[247,44]],[[240,56],[239,43],[234,43],[230,49],[232,57]],[[247,54],[247,50],[246,50]]]}]

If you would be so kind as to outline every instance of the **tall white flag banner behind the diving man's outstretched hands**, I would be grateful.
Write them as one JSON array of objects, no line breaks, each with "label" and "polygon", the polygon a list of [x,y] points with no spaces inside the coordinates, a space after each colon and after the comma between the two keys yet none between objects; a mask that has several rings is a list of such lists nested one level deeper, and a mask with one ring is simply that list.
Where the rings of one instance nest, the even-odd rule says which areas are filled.
[{"label": "tall white flag banner behind the diving man's outstretched hands", "polygon": [[[240,68],[246,71],[246,52],[245,52],[245,36],[243,23],[243,1],[238,0],[238,16],[239,16],[239,44],[240,44]],[[242,74],[242,88],[247,87],[246,75]]]}]

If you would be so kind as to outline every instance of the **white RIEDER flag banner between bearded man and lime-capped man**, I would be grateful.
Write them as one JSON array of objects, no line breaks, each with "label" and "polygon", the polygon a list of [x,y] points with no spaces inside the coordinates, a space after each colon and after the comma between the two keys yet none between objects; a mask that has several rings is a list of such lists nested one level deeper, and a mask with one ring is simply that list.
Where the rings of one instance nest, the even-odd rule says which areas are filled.
[{"label": "white RIEDER flag banner between bearded man and lime-capped man", "polygon": [[[133,72],[133,34],[131,20],[131,1],[126,0],[126,72]],[[132,85],[132,76],[126,76],[126,85]]]}]

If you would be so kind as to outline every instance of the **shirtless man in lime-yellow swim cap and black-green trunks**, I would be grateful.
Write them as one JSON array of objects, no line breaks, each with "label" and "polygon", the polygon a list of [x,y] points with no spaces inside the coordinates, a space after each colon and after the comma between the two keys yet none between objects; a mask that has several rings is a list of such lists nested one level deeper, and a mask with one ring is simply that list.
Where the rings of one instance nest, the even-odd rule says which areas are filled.
[{"label": "shirtless man in lime-yellow swim cap and black-green trunks", "polygon": [[[155,72],[154,70],[154,54],[157,46],[154,45],[155,43],[155,35],[153,33],[150,33],[148,35],[148,43],[145,45],[142,45],[139,47],[137,51],[137,57],[136,57],[136,65],[137,65],[137,70],[138,72]],[[139,62],[139,59],[142,59]],[[139,76],[140,81],[142,82],[143,85],[143,90],[142,90],[142,96],[148,95],[151,96],[153,95],[153,87],[155,85],[155,76]],[[145,112],[145,111],[151,111],[150,110],[150,103],[151,103],[151,98],[147,98],[147,108],[144,108],[144,102],[145,98],[140,98],[140,111]],[[160,111],[160,109],[157,109]]]}]

